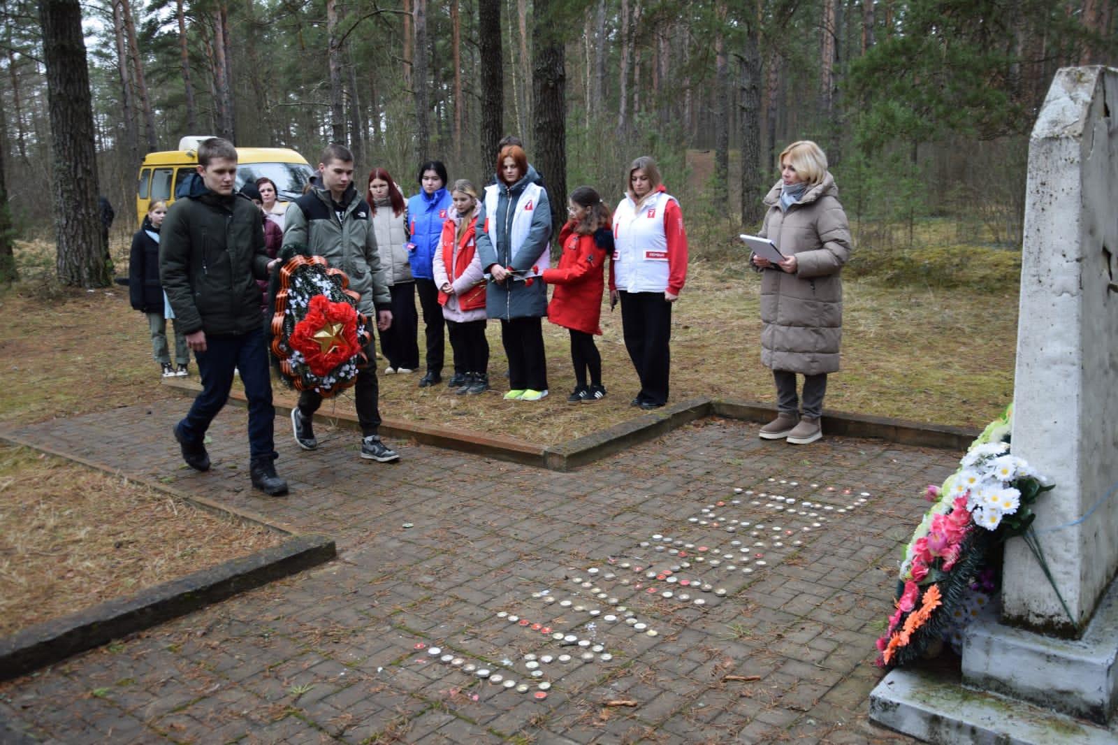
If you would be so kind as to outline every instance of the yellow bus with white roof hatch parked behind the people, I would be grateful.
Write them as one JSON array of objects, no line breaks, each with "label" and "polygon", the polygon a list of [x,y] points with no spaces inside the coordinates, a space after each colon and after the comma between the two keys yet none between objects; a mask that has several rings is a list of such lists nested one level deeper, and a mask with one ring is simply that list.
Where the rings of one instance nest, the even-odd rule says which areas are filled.
[{"label": "yellow bus with white roof hatch parked behind the people", "polygon": [[[148,205],[163,199],[170,205],[187,177],[198,170],[198,143],[203,136],[186,136],[179,150],[150,152],[140,166],[136,181],[136,218],[143,224]],[[237,189],[266,176],[276,185],[280,201],[303,194],[314,170],[306,159],[287,148],[237,148]]]}]

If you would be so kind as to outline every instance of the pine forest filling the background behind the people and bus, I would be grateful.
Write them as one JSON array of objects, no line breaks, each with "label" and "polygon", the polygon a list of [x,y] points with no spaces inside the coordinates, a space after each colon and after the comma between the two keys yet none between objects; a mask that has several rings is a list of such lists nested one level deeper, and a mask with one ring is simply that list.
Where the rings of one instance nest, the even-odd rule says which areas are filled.
[{"label": "pine forest filling the background behind the people and bus", "polygon": [[[925,218],[948,219],[957,243],[1016,248],[1027,133],[1059,67],[1114,62],[1115,4],[0,0],[0,268],[16,268],[12,237],[46,237],[64,284],[107,282],[74,220],[103,194],[131,233],[143,154],[183,134],[312,164],[345,142],[359,171],[386,167],[413,194],[426,158],[484,182],[515,133],[558,205],[581,183],[616,202],[626,164],[652,154],[697,255],[716,257],[759,220],[776,153],[814,139],[860,248],[912,246]],[[75,13],[88,81],[55,65],[51,96],[45,41],[65,47]],[[91,129],[53,111],[83,88]]]}]

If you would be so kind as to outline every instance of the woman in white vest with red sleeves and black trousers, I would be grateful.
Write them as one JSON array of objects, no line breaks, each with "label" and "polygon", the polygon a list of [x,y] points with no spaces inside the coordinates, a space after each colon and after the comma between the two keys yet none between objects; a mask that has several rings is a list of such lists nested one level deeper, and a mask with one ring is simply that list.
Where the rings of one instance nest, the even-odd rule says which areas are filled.
[{"label": "woman in white vest with red sleeves and black trousers", "polygon": [[688,234],[680,202],[661,182],[656,161],[634,160],[627,181],[614,211],[609,301],[620,299],[622,336],[641,379],[629,405],[659,408],[667,403],[672,303],[688,277]]}]

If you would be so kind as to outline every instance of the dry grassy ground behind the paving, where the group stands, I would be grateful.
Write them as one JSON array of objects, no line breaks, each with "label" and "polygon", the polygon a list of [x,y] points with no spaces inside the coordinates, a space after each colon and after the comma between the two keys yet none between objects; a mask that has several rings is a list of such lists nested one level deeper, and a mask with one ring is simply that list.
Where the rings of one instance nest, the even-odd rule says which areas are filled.
[{"label": "dry grassy ground behind the paving, where the group stands", "polygon": [[[929,223],[929,236],[935,223]],[[942,225],[940,224],[940,229]],[[946,237],[946,236],[945,236]],[[119,255],[125,246],[116,246]],[[21,260],[28,247],[17,253]],[[41,254],[42,245],[37,247]],[[865,248],[864,252],[873,251]],[[961,426],[984,425],[1013,395],[1016,345],[1017,264],[1014,252],[944,245],[957,262],[976,251],[1007,261],[959,272],[939,287],[911,283],[865,262],[845,276],[843,369],[831,377],[827,407],[859,414]],[[760,364],[759,276],[743,256],[705,257],[694,245],[688,286],[673,310],[671,400],[692,396],[771,400],[773,383]],[[859,251],[855,249],[855,260]],[[40,260],[41,263],[41,260]],[[120,265],[120,264],[119,264]],[[852,262],[852,270],[858,266]],[[126,271],[123,266],[120,271]],[[883,272],[883,274],[882,274]],[[884,277],[882,281],[881,277]],[[911,279],[911,277],[910,277]],[[146,323],[129,307],[119,285],[95,292],[65,290],[47,298],[21,283],[0,294],[0,312],[15,319],[0,327],[0,424],[17,425],[171,394],[160,385]],[[445,386],[418,388],[414,375],[380,375],[381,414],[402,421],[452,426],[555,444],[624,422],[637,381],[622,338],[620,312],[603,299],[601,351],[607,397],[568,404],[575,385],[566,329],[544,322],[550,396],[538,404],[506,403],[506,368],[500,324],[490,323],[490,383],[482,396],[456,396]],[[982,353],[975,353],[977,347]],[[378,360],[382,370],[385,361]],[[451,348],[446,348],[446,370]],[[191,370],[197,372],[193,365]],[[292,392],[274,386],[277,400]],[[183,411],[186,409],[183,402]],[[324,403],[321,415],[353,411],[351,392]],[[325,422],[323,422],[325,424]],[[281,425],[277,435],[284,436]]]}]

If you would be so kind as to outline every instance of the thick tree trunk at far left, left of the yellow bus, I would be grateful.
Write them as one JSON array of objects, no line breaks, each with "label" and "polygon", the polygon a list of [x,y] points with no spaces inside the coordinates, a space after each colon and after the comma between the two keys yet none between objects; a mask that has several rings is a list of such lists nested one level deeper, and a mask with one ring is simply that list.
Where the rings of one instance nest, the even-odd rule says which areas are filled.
[{"label": "thick tree trunk at far left, left of the yellow bus", "polygon": [[101,287],[110,283],[108,246],[101,236],[93,106],[78,0],[41,0],[42,59],[47,68],[58,281]]}]

